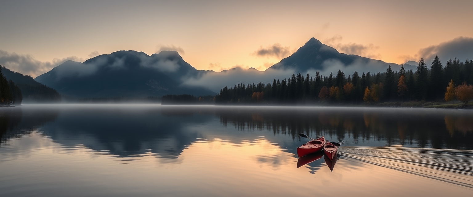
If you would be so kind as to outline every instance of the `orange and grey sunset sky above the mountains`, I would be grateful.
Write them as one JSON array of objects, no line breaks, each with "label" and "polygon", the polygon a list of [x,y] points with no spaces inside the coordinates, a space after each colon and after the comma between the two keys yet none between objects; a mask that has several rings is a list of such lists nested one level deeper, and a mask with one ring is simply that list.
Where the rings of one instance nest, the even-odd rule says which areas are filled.
[{"label": "orange and grey sunset sky above the mountains", "polygon": [[0,65],[36,77],[65,60],[174,50],[196,69],[265,70],[312,37],[397,64],[459,53],[447,49],[471,59],[472,18],[471,0],[0,0]]}]

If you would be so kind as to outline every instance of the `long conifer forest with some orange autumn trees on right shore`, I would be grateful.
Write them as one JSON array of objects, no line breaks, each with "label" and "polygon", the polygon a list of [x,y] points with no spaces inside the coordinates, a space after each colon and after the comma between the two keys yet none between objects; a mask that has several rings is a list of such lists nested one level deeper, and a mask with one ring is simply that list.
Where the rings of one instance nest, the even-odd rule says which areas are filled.
[{"label": "long conifer forest with some orange autumn trees on right shore", "polygon": [[[391,66],[383,73],[358,71],[346,77],[339,70],[336,75],[315,76],[293,74],[288,79],[272,83],[243,84],[224,87],[216,95],[216,103],[377,103],[402,101],[445,101],[446,87],[473,83],[473,60],[448,60],[443,66],[436,56],[430,67],[419,60],[417,69],[402,66],[394,71]],[[469,86],[473,87],[473,86]],[[472,89],[473,91],[473,89]]]}]

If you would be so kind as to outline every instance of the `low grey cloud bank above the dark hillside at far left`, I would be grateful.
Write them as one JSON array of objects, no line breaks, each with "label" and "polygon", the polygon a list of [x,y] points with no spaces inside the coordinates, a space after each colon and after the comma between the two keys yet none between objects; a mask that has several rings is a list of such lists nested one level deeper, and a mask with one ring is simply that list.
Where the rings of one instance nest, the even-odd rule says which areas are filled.
[{"label": "low grey cloud bank above the dark hillside at far left", "polygon": [[84,61],[82,58],[76,56],[70,56],[67,58],[58,59],[55,58],[53,61],[39,61],[31,54],[17,54],[15,52],[7,52],[0,50],[0,65],[5,66],[6,68],[19,72],[24,75],[29,75],[31,77],[36,77],[43,73],[48,72],[54,67],[62,64],[67,60],[73,61]]}]

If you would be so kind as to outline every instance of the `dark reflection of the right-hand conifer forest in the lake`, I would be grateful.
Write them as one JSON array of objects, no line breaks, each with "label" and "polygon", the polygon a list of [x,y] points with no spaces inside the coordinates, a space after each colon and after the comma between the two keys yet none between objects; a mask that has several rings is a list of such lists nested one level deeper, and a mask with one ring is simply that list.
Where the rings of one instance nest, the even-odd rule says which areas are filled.
[{"label": "dark reflection of the right-hand conifer forest in the lake", "polygon": [[[224,126],[241,130],[272,130],[274,135],[297,133],[329,136],[353,144],[383,142],[387,146],[473,149],[472,111],[430,109],[293,109],[219,112]],[[375,145],[376,146],[376,145]]]}]

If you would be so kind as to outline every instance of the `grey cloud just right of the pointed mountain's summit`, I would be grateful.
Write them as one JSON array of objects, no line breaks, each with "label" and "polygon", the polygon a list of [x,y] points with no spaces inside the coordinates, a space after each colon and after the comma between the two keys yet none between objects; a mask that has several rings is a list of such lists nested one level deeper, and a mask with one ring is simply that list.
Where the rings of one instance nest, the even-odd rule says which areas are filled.
[{"label": "grey cloud just right of the pointed mountain's summit", "polygon": [[354,54],[362,57],[367,57],[371,59],[379,60],[381,58],[380,53],[375,51],[379,49],[378,46],[375,46],[372,43],[369,44],[359,44],[359,43],[340,43],[343,40],[341,35],[334,35],[332,38],[327,38],[324,40],[324,43],[332,46],[338,51],[345,54]]}]

